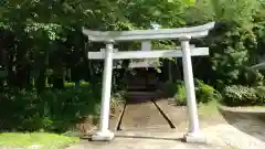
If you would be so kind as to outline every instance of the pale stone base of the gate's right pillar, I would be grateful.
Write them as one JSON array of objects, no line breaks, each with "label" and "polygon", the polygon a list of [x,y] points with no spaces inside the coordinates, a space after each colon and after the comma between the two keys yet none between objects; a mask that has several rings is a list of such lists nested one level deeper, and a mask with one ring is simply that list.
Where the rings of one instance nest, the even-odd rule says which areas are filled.
[{"label": "pale stone base of the gate's right pillar", "polygon": [[206,143],[206,138],[201,132],[188,132],[184,135],[184,141],[192,143]]}]

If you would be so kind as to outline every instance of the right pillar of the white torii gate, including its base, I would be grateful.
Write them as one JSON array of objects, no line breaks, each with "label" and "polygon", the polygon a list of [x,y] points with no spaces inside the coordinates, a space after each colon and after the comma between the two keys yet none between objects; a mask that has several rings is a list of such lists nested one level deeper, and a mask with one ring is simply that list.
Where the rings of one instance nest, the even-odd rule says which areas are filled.
[{"label": "right pillar of the white torii gate, including its base", "polygon": [[184,139],[187,142],[205,142],[205,137],[200,132],[199,118],[197,110],[195,89],[192,72],[192,61],[190,53],[190,39],[191,36],[180,38],[182,50],[182,65],[186,85],[186,96],[189,116],[189,131],[186,134]]}]

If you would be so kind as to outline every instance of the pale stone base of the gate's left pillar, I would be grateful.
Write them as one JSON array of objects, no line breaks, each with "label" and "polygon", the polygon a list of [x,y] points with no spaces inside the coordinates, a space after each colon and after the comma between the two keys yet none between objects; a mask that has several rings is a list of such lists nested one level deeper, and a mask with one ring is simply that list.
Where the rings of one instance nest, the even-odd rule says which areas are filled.
[{"label": "pale stone base of the gate's left pillar", "polygon": [[97,131],[92,136],[92,141],[110,141],[114,138],[114,132],[107,131]]}]

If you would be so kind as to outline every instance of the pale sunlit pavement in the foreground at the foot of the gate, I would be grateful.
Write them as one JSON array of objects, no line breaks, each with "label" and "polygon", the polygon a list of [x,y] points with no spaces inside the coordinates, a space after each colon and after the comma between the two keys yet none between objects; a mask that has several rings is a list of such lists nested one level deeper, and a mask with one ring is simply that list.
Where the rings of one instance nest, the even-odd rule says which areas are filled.
[{"label": "pale sunlit pavement in the foreground at the foot of the gate", "polygon": [[157,129],[152,132],[117,132],[116,138],[110,142],[84,140],[67,149],[265,149],[265,142],[227,124],[209,127],[202,131],[206,137],[206,145],[181,142],[180,138],[183,134]]}]

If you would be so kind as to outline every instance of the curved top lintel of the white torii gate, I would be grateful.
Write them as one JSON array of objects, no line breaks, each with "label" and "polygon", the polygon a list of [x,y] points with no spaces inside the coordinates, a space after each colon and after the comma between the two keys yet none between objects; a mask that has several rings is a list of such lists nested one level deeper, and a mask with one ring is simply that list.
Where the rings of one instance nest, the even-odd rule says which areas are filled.
[{"label": "curved top lintel of the white torii gate", "polygon": [[135,30],[135,31],[92,31],[83,28],[83,33],[93,42],[166,40],[180,38],[202,38],[214,28],[214,22],[191,28]]}]

